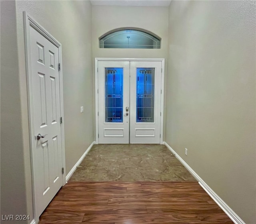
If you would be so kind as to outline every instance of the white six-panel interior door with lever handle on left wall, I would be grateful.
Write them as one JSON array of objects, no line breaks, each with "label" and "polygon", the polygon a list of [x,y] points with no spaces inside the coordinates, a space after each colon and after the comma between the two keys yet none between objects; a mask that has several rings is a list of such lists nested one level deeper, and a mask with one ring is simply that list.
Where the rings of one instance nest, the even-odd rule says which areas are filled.
[{"label": "white six-panel interior door with lever handle on left wall", "polygon": [[[58,47],[29,27],[34,196],[39,216],[62,186]],[[31,91],[31,90],[30,90]]]}]

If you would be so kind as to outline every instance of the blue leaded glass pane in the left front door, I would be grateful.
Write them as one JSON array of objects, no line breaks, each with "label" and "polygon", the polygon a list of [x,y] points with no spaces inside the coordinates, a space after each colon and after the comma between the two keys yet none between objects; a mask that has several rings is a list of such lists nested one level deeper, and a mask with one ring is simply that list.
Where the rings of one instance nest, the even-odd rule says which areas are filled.
[{"label": "blue leaded glass pane in the left front door", "polygon": [[105,68],[105,122],[123,122],[123,68]]}]

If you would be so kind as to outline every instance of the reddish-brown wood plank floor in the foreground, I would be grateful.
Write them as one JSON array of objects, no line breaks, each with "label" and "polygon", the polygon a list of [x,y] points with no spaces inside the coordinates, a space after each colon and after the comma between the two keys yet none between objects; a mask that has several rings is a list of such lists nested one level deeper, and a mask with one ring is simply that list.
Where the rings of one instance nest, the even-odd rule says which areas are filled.
[{"label": "reddish-brown wood plank floor in the foreground", "polygon": [[232,224],[198,183],[67,183],[40,216],[46,223]]}]

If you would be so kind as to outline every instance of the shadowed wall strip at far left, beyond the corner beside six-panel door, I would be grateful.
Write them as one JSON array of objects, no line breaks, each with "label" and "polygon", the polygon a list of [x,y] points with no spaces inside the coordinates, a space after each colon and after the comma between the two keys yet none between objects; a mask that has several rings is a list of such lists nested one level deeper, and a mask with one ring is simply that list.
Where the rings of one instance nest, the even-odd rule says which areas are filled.
[{"label": "shadowed wall strip at far left, beyond the corner beside six-panel door", "polygon": [[1,215],[31,215],[32,213],[27,213],[24,178],[16,7],[15,1],[1,1],[0,4]]}]

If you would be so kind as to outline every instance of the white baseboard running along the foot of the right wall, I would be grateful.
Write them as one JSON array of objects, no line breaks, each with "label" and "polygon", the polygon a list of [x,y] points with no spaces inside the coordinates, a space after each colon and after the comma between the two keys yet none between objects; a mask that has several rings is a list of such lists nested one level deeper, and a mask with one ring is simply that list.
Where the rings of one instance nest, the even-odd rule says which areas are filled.
[{"label": "white baseboard running along the foot of the right wall", "polygon": [[235,224],[245,224],[245,222],[222,200],[204,181],[203,179],[164,141],[164,145],[175,154],[176,158],[186,167],[186,169],[197,179],[200,186],[206,193],[220,206]]}]

